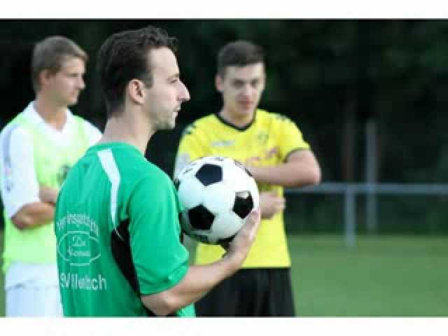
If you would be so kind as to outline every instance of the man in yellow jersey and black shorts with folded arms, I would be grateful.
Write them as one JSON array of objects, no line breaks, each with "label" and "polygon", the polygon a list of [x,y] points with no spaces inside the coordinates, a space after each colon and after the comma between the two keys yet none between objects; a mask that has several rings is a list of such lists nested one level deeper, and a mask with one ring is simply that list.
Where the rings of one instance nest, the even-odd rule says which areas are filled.
[{"label": "man in yellow jersey and black shorts with folded arms", "polygon": [[[283,187],[319,183],[320,167],[293,121],[258,109],[265,88],[258,45],[237,41],[221,49],[216,88],[223,107],[186,128],[175,170],[206,155],[243,162],[258,183],[262,223],[243,268],[196,303],[197,316],[295,316]],[[196,262],[214,262],[223,252],[198,244]]]}]

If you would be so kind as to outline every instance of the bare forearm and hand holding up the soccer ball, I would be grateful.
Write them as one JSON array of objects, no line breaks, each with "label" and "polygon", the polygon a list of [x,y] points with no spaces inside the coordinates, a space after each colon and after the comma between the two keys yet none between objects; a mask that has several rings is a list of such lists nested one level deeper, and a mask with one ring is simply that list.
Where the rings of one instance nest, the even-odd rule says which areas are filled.
[{"label": "bare forearm and hand holding up the soccer ball", "polygon": [[176,286],[157,294],[142,296],[144,305],[155,314],[165,316],[199,300],[211,288],[241,267],[259,225],[260,211],[253,211],[221,260],[210,265],[191,266],[186,276]]}]

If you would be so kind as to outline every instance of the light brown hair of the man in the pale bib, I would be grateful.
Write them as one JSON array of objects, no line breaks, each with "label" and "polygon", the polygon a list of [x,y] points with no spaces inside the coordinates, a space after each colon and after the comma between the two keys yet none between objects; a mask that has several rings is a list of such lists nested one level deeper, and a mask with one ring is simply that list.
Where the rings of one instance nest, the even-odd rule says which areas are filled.
[{"label": "light brown hair of the man in the pale bib", "polygon": [[31,81],[34,92],[41,87],[39,75],[48,70],[55,74],[62,68],[62,63],[67,57],[79,58],[87,62],[87,54],[79,45],[64,36],[50,36],[36,43],[31,59]]}]

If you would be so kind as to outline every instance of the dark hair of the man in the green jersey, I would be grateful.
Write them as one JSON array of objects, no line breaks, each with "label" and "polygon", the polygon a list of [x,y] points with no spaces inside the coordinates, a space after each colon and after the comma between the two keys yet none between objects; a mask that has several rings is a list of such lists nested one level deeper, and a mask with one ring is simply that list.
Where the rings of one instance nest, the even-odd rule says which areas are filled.
[{"label": "dark hair of the man in the green jersey", "polygon": [[153,26],[121,31],[103,43],[97,55],[97,71],[108,117],[123,106],[130,80],[135,78],[148,87],[153,85],[149,51],[162,47],[176,52],[176,38]]}]

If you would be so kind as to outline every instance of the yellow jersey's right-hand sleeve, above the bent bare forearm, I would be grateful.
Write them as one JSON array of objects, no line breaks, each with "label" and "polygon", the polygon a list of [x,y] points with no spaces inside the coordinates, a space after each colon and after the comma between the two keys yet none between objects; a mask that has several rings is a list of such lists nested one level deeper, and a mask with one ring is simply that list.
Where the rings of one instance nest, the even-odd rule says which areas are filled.
[{"label": "yellow jersey's right-hand sleeve, above the bent bare forearm", "polygon": [[286,160],[290,153],[294,151],[310,148],[293,120],[286,116],[278,116],[277,118],[279,124],[277,127],[277,139],[279,139],[279,148],[283,160]]}]

